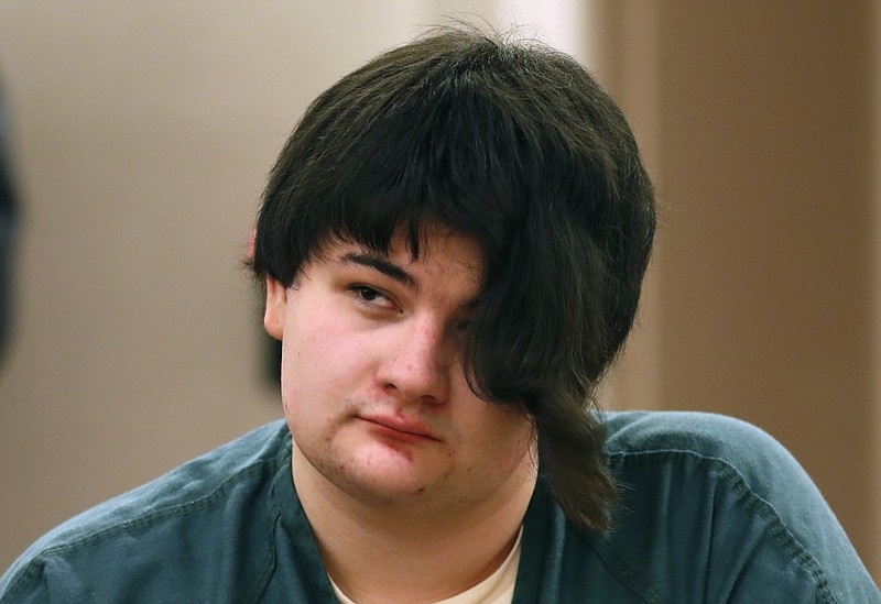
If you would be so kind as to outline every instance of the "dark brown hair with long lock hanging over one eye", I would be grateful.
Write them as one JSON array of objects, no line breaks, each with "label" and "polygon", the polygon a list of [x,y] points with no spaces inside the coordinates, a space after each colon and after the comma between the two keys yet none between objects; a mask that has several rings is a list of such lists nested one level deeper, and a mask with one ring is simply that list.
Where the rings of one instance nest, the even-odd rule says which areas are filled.
[{"label": "dark brown hair with long lock hanging over one eye", "polygon": [[535,42],[442,30],[344,77],[307,109],[271,173],[259,282],[294,283],[329,240],[418,256],[443,223],[483,252],[471,388],[532,418],[567,517],[606,528],[597,386],[631,329],[655,229],[633,135],[576,61]]}]

